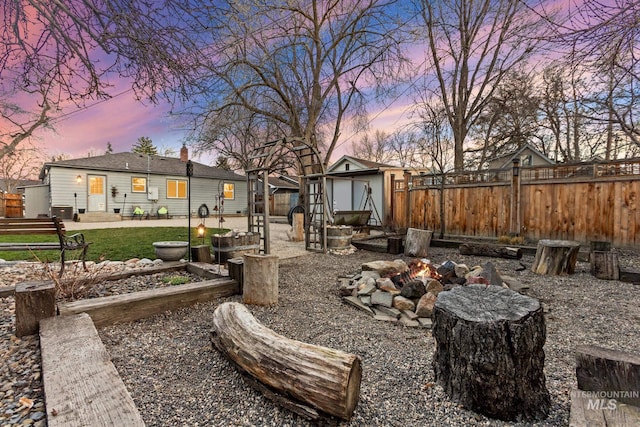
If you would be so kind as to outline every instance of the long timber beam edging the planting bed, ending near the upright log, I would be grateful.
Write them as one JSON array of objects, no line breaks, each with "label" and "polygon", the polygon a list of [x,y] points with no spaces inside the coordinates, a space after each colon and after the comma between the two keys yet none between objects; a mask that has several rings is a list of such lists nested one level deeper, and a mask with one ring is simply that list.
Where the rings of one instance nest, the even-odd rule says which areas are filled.
[{"label": "long timber beam edging the planting bed, ending near the upright log", "polygon": [[86,312],[97,327],[143,319],[168,310],[239,293],[238,282],[216,279],[160,289],[91,298],[58,305],[61,315]]}]

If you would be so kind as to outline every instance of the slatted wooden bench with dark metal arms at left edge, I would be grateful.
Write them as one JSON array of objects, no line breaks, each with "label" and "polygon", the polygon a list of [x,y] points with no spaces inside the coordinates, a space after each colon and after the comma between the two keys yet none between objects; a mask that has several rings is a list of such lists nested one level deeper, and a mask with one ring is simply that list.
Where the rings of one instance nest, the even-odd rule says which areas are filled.
[{"label": "slatted wooden bench with dark metal arms at left edge", "polygon": [[28,235],[52,235],[58,236],[57,242],[33,242],[33,243],[0,243],[0,251],[60,251],[60,277],[64,274],[66,251],[81,250],[80,259],[85,271],[87,266],[85,259],[90,242],[85,242],[82,233],[67,235],[64,223],[60,218],[0,218],[0,235],[2,236],[28,236]]}]

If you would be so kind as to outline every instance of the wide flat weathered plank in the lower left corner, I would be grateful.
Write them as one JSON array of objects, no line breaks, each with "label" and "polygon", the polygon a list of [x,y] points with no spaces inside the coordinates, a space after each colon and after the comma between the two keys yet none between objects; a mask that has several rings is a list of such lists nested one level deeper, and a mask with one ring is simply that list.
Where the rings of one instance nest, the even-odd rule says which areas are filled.
[{"label": "wide flat weathered plank in the lower left corner", "polygon": [[49,427],[144,426],[87,314],[43,319],[40,347]]}]

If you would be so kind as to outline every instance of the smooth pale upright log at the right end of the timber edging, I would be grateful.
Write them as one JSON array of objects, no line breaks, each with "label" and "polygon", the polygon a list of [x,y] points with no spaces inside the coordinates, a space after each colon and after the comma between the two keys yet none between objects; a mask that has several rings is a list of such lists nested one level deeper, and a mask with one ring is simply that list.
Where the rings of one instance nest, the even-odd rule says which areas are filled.
[{"label": "smooth pale upright log at the right end of the timber edging", "polygon": [[278,303],[278,257],[245,254],[242,302],[254,305]]}]

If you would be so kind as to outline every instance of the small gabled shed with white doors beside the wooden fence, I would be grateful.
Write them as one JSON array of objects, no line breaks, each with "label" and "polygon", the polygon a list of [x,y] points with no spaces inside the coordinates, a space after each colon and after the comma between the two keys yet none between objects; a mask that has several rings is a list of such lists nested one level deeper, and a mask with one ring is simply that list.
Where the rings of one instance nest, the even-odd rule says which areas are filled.
[{"label": "small gabled shed with white doors beside the wooden fence", "polygon": [[391,222],[394,180],[404,169],[344,155],[327,169],[327,200],[332,212],[371,211],[369,225]]}]

